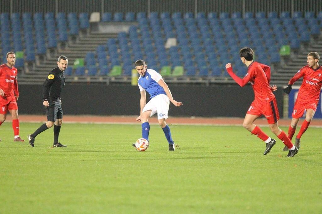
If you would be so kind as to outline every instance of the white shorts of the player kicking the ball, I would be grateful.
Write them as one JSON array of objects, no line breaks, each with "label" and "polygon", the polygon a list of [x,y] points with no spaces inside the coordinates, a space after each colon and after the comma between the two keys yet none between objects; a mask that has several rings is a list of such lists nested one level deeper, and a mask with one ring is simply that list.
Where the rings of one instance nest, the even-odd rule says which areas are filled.
[{"label": "white shorts of the player kicking the ball", "polygon": [[165,94],[159,94],[153,97],[147,105],[143,108],[142,112],[152,110],[151,116],[156,112],[158,113],[158,120],[168,118],[170,99]]}]

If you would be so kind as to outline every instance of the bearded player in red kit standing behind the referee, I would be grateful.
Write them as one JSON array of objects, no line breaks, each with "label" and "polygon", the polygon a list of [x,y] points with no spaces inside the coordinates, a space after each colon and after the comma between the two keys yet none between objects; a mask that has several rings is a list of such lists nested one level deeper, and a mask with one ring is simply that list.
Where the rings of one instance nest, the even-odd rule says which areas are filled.
[{"label": "bearded player in red kit standing behind the referee", "polygon": [[[18,105],[19,98],[17,69],[14,67],[16,55],[7,53],[7,63],[0,65],[0,125],[7,118],[9,111],[14,129],[14,141],[24,141],[19,137]],[[1,140],[0,140],[1,141]]]}]

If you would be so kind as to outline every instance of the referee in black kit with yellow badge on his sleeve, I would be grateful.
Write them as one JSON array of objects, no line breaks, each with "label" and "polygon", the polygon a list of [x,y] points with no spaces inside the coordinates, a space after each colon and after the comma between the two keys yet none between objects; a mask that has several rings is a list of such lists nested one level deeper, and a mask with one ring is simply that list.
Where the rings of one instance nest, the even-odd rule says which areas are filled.
[{"label": "referee in black kit with yellow badge on his sleeve", "polygon": [[60,96],[65,85],[64,71],[67,64],[68,58],[60,56],[57,67],[52,69],[43,83],[43,105],[46,107],[47,122],[42,124],[33,134],[28,135],[29,144],[32,147],[34,147],[36,136],[52,126],[54,126],[53,147],[65,147],[58,142],[58,136],[62,125],[62,101]]}]

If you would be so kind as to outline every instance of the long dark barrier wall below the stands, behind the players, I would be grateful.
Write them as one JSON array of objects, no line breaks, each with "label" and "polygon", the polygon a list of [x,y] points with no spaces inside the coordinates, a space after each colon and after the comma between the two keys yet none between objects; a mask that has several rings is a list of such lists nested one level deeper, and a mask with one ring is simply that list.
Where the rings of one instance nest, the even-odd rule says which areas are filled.
[{"label": "long dark barrier wall below the stands, behind the players", "polygon": [[[250,86],[169,85],[169,88],[174,99],[184,104],[175,107],[170,103],[169,116],[244,117],[254,99]],[[41,85],[20,85],[19,92],[20,114],[45,114]],[[274,94],[282,117],[282,90]],[[66,85],[62,107],[68,115],[139,115],[139,99],[137,86]]]}]

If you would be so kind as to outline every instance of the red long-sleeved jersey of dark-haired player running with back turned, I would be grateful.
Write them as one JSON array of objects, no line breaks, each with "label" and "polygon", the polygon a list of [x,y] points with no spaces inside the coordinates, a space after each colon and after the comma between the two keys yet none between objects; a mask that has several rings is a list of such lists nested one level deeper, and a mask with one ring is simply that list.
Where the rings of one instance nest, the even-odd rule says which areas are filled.
[{"label": "red long-sleeved jersey of dark-haired player running with back turned", "polygon": [[251,82],[251,87],[255,94],[255,102],[258,104],[269,103],[275,98],[270,87],[270,66],[252,62],[248,66],[247,73],[243,79],[232,72],[232,67],[230,68],[227,69],[227,72],[241,87]]}]

